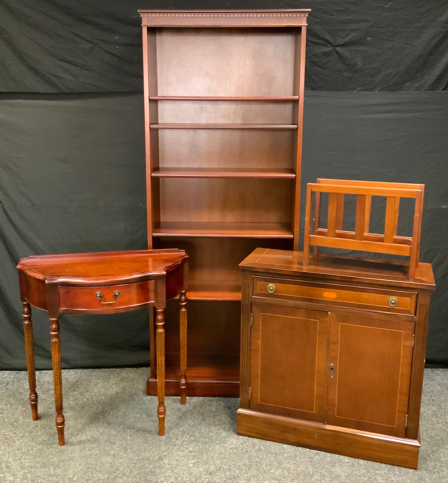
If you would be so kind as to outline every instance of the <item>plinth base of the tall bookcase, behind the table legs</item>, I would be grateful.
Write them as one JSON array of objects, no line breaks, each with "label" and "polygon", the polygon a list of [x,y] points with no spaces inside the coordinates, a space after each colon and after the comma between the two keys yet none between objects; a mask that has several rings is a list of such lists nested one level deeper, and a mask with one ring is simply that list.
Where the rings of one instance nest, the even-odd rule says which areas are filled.
[{"label": "plinth base of the tall bookcase, behind the table legs", "polygon": [[[157,380],[150,378],[146,382],[146,394],[157,396]],[[165,395],[180,396],[181,390],[178,379],[165,380]],[[205,396],[211,398],[238,398],[238,381],[204,381],[188,380],[187,396]]]}]

